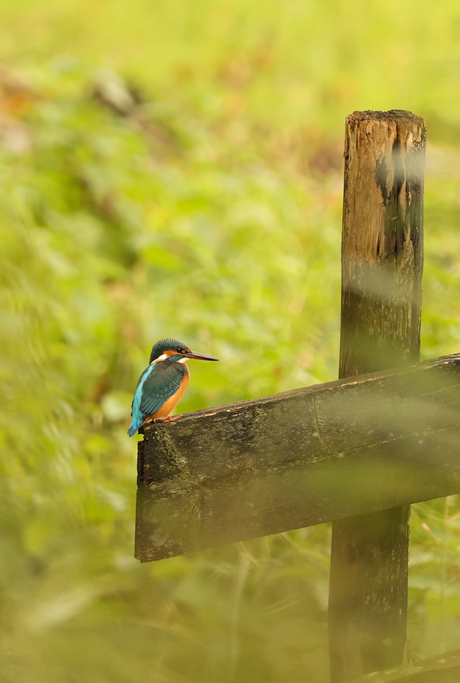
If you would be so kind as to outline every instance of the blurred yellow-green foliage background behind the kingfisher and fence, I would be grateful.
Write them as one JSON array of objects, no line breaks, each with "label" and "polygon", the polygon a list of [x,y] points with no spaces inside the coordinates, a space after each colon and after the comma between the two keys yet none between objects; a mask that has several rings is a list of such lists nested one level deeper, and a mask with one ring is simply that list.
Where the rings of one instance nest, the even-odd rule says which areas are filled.
[{"label": "blurred yellow-green foliage background behind the kingfisher and fence", "polygon": [[[337,375],[344,118],[426,118],[422,357],[460,346],[453,0],[3,0],[0,680],[328,680],[330,528],[140,565],[138,375],[188,411]],[[413,508],[410,647],[458,646],[460,505]]]}]

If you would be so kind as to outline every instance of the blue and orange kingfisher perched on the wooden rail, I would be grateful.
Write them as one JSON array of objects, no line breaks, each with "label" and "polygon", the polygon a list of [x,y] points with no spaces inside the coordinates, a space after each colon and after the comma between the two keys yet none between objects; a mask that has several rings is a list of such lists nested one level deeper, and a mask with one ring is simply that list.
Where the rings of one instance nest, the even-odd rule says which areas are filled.
[{"label": "blue and orange kingfisher perched on the wooden rail", "polygon": [[180,417],[170,415],[188,386],[190,372],[186,363],[191,358],[219,360],[191,351],[187,344],[177,339],[161,339],[153,345],[149,366],[139,377],[134,392],[128,429],[130,437],[146,422],[172,421]]}]

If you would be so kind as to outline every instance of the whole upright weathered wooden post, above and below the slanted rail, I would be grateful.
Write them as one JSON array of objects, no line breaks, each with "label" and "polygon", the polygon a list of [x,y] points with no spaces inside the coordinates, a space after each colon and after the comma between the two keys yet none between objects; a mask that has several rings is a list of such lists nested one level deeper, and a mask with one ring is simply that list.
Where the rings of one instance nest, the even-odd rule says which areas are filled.
[{"label": "whole upright weathered wooden post, above and below the slanted rail", "polygon": [[[419,358],[424,152],[425,123],[410,112],[347,117],[340,377]],[[395,508],[333,525],[332,683],[402,662],[409,514]]]}]

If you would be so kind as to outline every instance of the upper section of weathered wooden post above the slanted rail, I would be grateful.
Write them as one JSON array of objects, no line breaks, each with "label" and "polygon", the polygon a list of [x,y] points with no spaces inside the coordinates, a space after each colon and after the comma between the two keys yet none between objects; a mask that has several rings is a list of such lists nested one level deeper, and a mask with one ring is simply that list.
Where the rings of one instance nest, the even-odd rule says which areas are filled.
[{"label": "upper section of weathered wooden post above the slanted rail", "polygon": [[340,377],[419,358],[425,139],[410,112],[347,117]]}]

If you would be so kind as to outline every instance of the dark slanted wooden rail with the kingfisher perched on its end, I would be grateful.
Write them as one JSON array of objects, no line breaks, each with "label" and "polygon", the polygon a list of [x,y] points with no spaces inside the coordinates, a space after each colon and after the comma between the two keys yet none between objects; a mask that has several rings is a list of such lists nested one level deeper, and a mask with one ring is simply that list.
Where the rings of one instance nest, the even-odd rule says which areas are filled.
[{"label": "dark slanted wooden rail with the kingfisher perched on its end", "polygon": [[142,562],[460,492],[460,354],[189,413],[139,443]]}]

